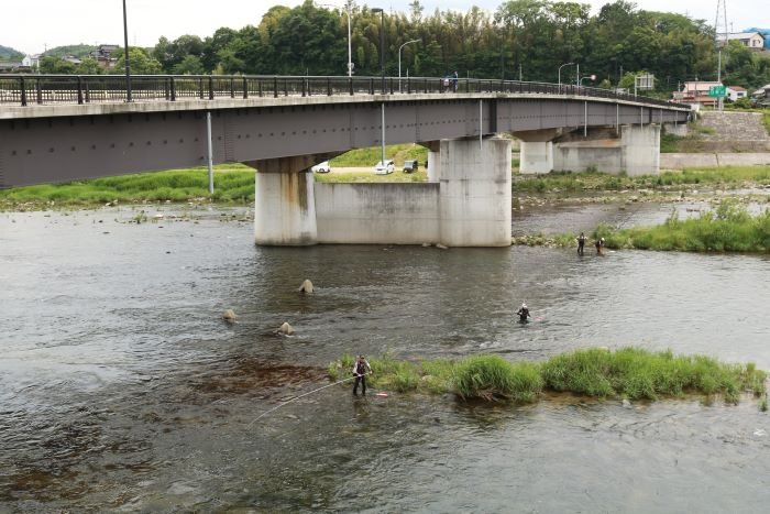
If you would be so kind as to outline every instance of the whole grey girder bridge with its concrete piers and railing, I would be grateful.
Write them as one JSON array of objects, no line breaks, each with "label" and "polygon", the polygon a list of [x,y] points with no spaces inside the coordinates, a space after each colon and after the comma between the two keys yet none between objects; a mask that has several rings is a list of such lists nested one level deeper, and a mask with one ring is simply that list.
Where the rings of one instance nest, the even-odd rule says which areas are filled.
[{"label": "whole grey girder bridge with its concrete piers and railing", "polygon": [[[240,162],[260,172],[261,244],[504,245],[510,141],[498,134],[524,141],[522,173],[654,173],[660,127],[689,116],[651,98],[509,80],[7,75],[0,188]],[[407,142],[428,147],[428,184],[315,185],[308,173],[352,149]]]}]

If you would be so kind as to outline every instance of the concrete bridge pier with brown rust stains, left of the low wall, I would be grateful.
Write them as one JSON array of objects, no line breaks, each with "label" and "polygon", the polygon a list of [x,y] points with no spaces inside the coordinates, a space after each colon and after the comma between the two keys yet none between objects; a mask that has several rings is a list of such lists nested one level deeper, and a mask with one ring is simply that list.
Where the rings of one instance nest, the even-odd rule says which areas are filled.
[{"label": "concrete bridge pier with brown rust stains, left of the low wall", "polygon": [[248,163],[257,168],[254,187],[254,242],[301,247],[318,242],[312,155]]}]

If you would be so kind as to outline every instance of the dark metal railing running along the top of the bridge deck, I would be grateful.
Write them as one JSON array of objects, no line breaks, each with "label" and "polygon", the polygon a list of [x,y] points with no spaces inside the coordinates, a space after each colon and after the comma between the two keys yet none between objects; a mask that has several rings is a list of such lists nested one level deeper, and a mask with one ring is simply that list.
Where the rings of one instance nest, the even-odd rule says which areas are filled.
[{"label": "dark metal railing running along the top of the bridge deck", "polygon": [[[324,77],[262,75],[134,75],[131,96],[139,101],[222,98],[491,92],[564,95],[640,101],[660,107],[681,103],[617,94],[608,89],[548,83],[451,77]],[[128,99],[122,75],[0,75],[0,106],[121,102]]]}]

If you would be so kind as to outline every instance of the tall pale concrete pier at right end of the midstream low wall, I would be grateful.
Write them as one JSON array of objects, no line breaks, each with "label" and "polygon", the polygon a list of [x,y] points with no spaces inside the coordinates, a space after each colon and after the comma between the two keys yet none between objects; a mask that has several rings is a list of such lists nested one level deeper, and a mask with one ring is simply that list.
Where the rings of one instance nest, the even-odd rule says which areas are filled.
[{"label": "tall pale concrete pier at right end of the midstream low wall", "polygon": [[440,240],[448,247],[510,245],[510,140],[441,141]]}]

